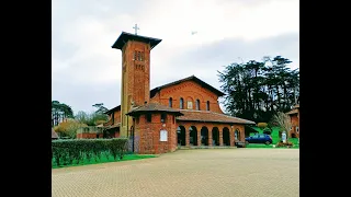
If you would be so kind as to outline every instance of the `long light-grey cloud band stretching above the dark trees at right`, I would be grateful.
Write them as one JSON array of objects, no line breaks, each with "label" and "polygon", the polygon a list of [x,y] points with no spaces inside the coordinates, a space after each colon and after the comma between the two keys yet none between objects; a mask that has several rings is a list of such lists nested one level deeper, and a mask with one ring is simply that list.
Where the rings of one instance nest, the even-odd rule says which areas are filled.
[{"label": "long light-grey cloud band stretching above the dark trees at right", "polygon": [[[298,60],[299,57],[299,35],[298,33],[284,34],[254,42],[242,39],[223,39],[210,45],[190,48],[173,57],[171,62],[178,68],[190,62],[202,69],[206,67],[226,66],[231,62],[249,60],[261,60],[263,56],[281,55],[291,60]],[[225,65],[220,65],[225,63]],[[293,62],[294,63],[294,62]],[[296,62],[298,63],[298,62]]]}]

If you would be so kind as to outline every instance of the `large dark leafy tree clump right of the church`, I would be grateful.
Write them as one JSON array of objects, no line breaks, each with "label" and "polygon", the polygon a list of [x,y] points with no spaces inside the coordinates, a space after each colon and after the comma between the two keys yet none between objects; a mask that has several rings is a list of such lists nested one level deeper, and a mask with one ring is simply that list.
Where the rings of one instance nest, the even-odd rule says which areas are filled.
[{"label": "large dark leafy tree clump right of the church", "polygon": [[263,57],[218,71],[226,113],[268,123],[276,112],[290,111],[299,95],[299,72],[287,67],[291,62],[281,56]]}]

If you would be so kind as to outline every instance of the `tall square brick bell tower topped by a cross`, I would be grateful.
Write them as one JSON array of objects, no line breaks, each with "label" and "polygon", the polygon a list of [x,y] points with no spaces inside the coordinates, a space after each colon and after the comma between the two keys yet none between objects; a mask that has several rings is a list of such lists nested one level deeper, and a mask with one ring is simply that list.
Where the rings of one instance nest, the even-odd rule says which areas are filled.
[{"label": "tall square brick bell tower topped by a cross", "polygon": [[150,100],[150,51],[162,39],[122,32],[112,48],[122,50],[121,137],[127,137],[133,119],[126,114],[133,106]]}]

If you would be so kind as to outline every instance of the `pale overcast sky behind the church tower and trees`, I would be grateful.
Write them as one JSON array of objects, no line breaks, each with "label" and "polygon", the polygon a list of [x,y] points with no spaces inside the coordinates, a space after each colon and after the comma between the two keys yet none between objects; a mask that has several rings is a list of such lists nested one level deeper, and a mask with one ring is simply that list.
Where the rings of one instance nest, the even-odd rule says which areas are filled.
[{"label": "pale overcast sky behind the church tower and trees", "polygon": [[194,74],[220,90],[217,70],[263,56],[299,67],[299,0],[52,2],[52,99],[75,114],[121,104],[122,53],[111,46],[136,23],[138,35],[162,39],[151,50],[150,89]]}]

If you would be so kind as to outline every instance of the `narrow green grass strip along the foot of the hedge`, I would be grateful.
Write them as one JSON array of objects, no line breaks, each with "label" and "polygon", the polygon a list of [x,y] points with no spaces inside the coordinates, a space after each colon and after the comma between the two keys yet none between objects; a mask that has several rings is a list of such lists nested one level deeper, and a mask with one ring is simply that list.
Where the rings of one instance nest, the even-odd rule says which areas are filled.
[{"label": "narrow green grass strip along the foot of the hedge", "polygon": [[140,159],[147,159],[147,158],[156,158],[156,155],[152,155],[152,154],[125,154],[122,160],[120,160],[120,159],[114,160],[112,155],[106,158],[106,155],[103,154],[103,155],[101,155],[100,160],[98,159],[98,161],[95,161],[93,158],[91,160],[88,160],[87,158],[84,158],[84,160],[80,161],[79,164],[77,164],[77,161],[73,161],[73,164],[59,165],[59,166],[57,166],[55,159],[53,159],[52,160],[52,169],[90,165],[90,164],[109,163],[109,162],[122,162],[122,161],[140,160]]}]

